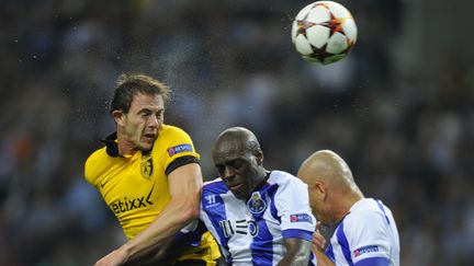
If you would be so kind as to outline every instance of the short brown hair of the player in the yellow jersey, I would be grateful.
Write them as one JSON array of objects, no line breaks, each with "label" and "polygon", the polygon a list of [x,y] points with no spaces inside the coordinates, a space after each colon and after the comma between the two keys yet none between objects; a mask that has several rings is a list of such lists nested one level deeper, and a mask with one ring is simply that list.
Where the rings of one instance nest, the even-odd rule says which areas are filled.
[{"label": "short brown hair of the player in the yellow jersey", "polygon": [[121,74],[116,81],[115,92],[110,112],[120,109],[128,113],[134,95],[144,93],[161,95],[165,104],[168,102],[171,90],[160,81],[146,74]]}]

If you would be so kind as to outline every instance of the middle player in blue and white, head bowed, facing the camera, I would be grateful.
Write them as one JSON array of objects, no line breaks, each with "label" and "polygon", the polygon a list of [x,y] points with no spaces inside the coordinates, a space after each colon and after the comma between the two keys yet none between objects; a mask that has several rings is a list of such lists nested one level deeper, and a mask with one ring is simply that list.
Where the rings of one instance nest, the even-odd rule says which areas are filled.
[{"label": "middle player in blue and white, head bowed, facing the camera", "polygon": [[315,265],[316,219],[307,186],[263,167],[263,152],[247,128],[224,130],[213,149],[221,177],[204,184],[200,218],[228,265]]}]

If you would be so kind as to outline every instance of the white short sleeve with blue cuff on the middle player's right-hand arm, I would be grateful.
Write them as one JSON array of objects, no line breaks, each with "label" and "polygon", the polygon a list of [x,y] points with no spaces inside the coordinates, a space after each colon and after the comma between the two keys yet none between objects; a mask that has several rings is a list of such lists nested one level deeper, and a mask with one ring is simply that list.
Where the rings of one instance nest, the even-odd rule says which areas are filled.
[{"label": "white short sleeve with blue cuff on the middle player's right-hand arm", "polygon": [[281,219],[283,238],[312,241],[316,218],[309,207],[306,185],[296,177],[290,178],[275,194],[275,207]]}]

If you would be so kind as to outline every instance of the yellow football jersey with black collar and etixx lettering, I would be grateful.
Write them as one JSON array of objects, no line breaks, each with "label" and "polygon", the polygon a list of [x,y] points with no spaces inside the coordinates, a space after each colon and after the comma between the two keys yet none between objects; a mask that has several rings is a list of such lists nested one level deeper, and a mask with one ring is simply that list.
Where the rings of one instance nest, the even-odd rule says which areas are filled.
[{"label": "yellow football jersey with black collar and etixx lettering", "polygon": [[[191,162],[199,162],[191,138],[182,129],[163,125],[149,152],[120,155],[116,134],[105,147],[86,161],[86,180],[102,195],[128,239],[147,228],[170,201],[168,174]],[[190,247],[179,258],[213,261],[221,256],[212,235],[203,234],[199,247]]]}]

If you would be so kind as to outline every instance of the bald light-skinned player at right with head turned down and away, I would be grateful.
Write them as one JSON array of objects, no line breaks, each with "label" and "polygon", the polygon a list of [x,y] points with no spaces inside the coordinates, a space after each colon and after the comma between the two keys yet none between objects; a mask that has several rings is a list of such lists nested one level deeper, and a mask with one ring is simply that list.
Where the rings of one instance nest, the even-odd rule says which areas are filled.
[{"label": "bald light-skinned player at right with head turned down and away", "polygon": [[308,185],[309,204],[318,221],[336,228],[326,248],[336,265],[399,265],[399,238],[392,211],[381,200],[363,196],[338,154],[329,150],[313,153],[297,175]]}]

